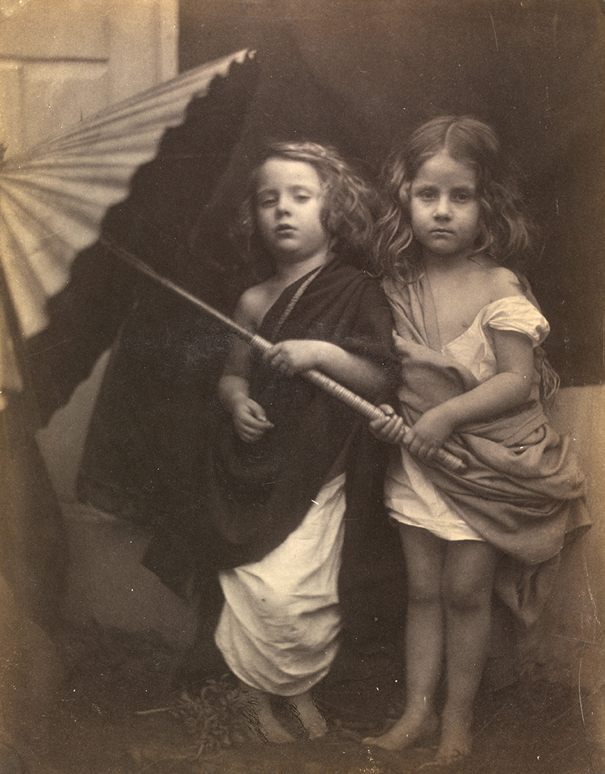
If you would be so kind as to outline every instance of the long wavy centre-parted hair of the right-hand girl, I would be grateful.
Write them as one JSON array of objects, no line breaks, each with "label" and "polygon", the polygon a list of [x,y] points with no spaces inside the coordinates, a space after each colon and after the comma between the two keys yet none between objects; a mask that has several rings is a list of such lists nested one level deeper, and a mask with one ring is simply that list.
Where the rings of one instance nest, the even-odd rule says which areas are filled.
[{"label": "long wavy centre-parted hair of the right-hand girl", "polygon": [[421,166],[442,150],[476,173],[480,236],[473,253],[489,252],[500,265],[521,271],[536,229],[519,193],[519,170],[490,126],[470,116],[451,115],[421,125],[387,160],[372,255],[376,270],[404,282],[421,272],[421,248],[411,229],[411,184]]}]

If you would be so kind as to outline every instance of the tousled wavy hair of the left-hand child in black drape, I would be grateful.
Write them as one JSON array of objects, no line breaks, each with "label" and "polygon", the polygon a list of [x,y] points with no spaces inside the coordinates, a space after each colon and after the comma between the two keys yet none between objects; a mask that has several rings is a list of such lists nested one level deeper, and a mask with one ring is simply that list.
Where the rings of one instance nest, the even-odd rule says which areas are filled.
[{"label": "tousled wavy hair of the left-hand child in black drape", "polygon": [[260,169],[269,159],[302,161],[315,169],[324,197],[321,225],[330,238],[332,252],[357,265],[369,265],[376,191],[332,146],[307,141],[270,142],[264,146],[231,226],[232,240],[240,254],[246,259],[266,257],[256,221],[256,191]]}]

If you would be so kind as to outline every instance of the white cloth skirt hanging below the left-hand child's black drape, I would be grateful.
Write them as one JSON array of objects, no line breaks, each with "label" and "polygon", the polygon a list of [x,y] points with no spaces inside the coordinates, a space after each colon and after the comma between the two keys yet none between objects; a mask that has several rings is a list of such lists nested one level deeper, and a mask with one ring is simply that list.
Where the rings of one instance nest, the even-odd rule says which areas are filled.
[{"label": "white cloth skirt hanging below the left-hand child's black drape", "polygon": [[321,488],[294,532],[259,562],[219,574],[215,642],[232,672],[269,694],[318,683],[338,651],[345,474]]}]

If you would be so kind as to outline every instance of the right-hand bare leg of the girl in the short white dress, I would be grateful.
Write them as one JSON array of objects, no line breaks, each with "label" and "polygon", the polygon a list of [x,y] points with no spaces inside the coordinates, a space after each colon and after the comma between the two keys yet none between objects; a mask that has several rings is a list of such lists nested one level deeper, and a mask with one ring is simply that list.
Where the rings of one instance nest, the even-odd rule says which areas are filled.
[{"label": "right-hand bare leg of the girl in the short white dress", "polygon": [[491,594],[497,552],[489,543],[449,543],[444,569],[447,698],[436,760],[469,755],[473,704],[490,642]]}]

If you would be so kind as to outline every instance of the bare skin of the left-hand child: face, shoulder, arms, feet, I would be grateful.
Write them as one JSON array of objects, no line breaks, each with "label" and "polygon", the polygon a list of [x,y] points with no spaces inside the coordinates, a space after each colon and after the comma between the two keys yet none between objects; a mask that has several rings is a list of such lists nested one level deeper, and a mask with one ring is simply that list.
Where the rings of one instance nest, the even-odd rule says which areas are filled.
[{"label": "bare skin of the left-hand child: face, shoulder, arms, feet", "polygon": [[[287,286],[330,260],[331,238],[321,223],[323,206],[323,185],[311,164],[270,158],[261,167],[256,192],[256,221],[273,258],[275,274],[266,282],[246,290],[239,300],[235,320],[248,330],[258,330],[266,312]],[[273,427],[263,406],[249,396],[251,358],[248,344],[234,341],[218,385],[219,397],[232,415],[236,432],[248,444],[256,443]],[[387,382],[379,366],[326,341],[280,341],[263,354],[263,360],[285,376],[318,369],[368,398],[379,394]],[[245,683],[242,688],[255,701],[267,740],[293,741],[273,714],[270,694]],[[325,734],[325,719],[308,691],[288,697],[288,700],[294,704],[311,738]]]}]

